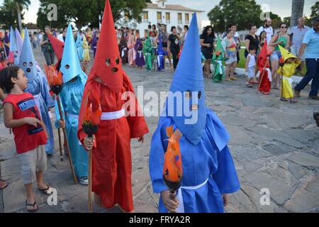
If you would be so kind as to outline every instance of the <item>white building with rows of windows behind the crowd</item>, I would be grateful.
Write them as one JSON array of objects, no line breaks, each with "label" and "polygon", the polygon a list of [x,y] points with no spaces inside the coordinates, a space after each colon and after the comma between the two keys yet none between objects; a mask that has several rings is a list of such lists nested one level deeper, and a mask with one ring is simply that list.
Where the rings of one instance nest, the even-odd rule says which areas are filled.
[{"label": "white building with rows of windows behind the crowd", "polygon": [[[124,20],[118,25],[135,28],[140,33],[140,37],[144,37],[149,25],[164,23],[167,25],[167,32],[170,33],[172,26],[180,28],[185,25],[189,26],[191,16],[195,12],[197,13],[198,28],[201,29],[201,13],[204,11],[189,9],[181,5],[166,4],[166,0],[159,0],[156,4],[147,3],[147,8],[142,12],[142,23],[136,23],[136,21],[128,23]],[[201,31],[199,32],[201,33]]]}]

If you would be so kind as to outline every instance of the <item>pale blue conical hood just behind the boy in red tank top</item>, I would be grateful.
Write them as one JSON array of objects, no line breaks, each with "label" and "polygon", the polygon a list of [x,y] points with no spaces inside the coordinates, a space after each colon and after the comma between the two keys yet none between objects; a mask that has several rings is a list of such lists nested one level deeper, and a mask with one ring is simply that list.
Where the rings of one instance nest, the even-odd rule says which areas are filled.
[{"label": "pale blue conical hood just behind the boy in red tank top", "polygon": [[[25,34],[28,34],[28,29],[26,28]],[[26,74],[26,77],[28,77],[28,82],[32,82],[35,78],[35,75],[37,74],[37,67],[36,62],[33,55],[33,50],[30,43],[29,35],[26,35],[26,37],[23,40],[23,46],[21,50],[21,56],[20,56],[20,67],[23,69],[24,73]]]}]

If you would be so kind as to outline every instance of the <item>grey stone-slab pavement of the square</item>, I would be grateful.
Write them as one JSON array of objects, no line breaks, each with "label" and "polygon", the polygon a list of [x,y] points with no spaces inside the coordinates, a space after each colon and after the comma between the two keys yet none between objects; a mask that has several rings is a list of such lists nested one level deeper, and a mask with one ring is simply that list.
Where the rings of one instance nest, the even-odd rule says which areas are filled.
[{"label": "grey stone-slab pavement of the square", "polygon": [[[35,57],[43,65],[40,51],[35,51]],[[143,86],[144,92],[154,91],[158,95],[167,92],[173,74],[172,70],[159,73],[130,67],[125,67],[125,71],[135,89]],[[303,91],[298,104],[284,103],[279,101],[279,91],[263,96],[245,87],[244,77],[221,84],[205,79],[205,87],[207,106],[216,111],[231,135],[229,147],[242,186],[239,192],[230,196],[226,211],[318,212],[319,128],[312,116],[314,111],[319,111],[318,101],[307,99],[308,91]],[[147,104],[145,100],[144,104]],[[145,113],[149,112],[145,108]],[[145,143],[140,145],[136,140],[131,143],[137,212],[157,212],[159,196],[152,193],[148,172],[150,140],[157,121],[157,117],[147,117],[150,133]],[[57,152],[58,149],[58,143],[55,143]],[[4,192],[0,192],[0,211],[26,212],[13,136],[4,128],[2,117],[0,160],[0,175],[10,183]],[[58,204],[48,206],[47,197],[35,190],[40,212],[86,212],[87,188],[74,184],[66,157],[60,162],[60,156],[55,153],[48,159],[48,166],[45,181],[57,189]],[[269,205],[260,203],[261,189],[269,189]],[[116,208],[106,211],[96,206],[94,211],[119,212]]]}]

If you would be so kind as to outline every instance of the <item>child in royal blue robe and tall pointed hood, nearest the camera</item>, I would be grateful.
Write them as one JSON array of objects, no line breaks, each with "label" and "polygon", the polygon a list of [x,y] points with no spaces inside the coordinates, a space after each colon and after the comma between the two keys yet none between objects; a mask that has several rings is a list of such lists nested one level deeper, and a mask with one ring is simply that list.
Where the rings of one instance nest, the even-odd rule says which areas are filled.
[{"label": "child in royal blue robe and tall pointed hood, nearest the camera", "polygon": [[[230,136],[205,104],[196,13],[169,93],[150,148],[152,187],[161,194],[159,212],[223,212],[227,194],[237,192],[240,182],[227,146]],[[182,134],[179,146],[184,173],[177,199],[170,199],[163,179],[170,126]]]}]

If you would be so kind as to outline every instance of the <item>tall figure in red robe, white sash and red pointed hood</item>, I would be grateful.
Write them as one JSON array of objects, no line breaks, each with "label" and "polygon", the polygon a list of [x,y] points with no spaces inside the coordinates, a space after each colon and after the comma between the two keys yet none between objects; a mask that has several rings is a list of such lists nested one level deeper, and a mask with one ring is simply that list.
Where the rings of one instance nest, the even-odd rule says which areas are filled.
[{"label": "tall figure in red robe, white sash and red pointed hood", "polygon": [[[95,135],[96,146],[93,147],[82,128],[86,107],[84,101],[79,113],[78,137],[87,150],[93,147],[92,191],[96,194],[96,203],[101,202],[106,209],[118,204],[123,211],[130,212],[133,211],[130,139],[138,138],[143,142],[143,135],[148,133],[148,128],[145,118],[138,114],[140,106],[133,85],[122,69],[108,0],[99,40],[94,65],[83,95],[86,97],[90,90],[94,90],[101,102],[103,114]],[[128,94],[127,92],[131,95],[123,100],[122,96]],[[123,107],[124,104],[130,105],[129,114]]]}]

